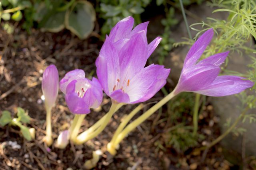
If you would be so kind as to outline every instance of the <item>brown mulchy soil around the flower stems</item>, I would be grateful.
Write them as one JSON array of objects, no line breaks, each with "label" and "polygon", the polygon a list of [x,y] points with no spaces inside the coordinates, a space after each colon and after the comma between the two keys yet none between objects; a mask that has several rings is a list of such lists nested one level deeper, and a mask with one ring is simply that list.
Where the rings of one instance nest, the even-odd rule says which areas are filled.
[{"label": "brown mulchy soil around the flower stems", "polygon": [[[98,32],[95,30],[86,40],[80,40],[69,31],[59,33],[42,33],[32,29],[28,35],[20,25],[14,25],[14,33],[8,35],[0,29],[0,110],[8,110],[15,116],[17,107],[28,110],[31,123],[28,127],[36,129],[36,138],[26,141],[16,127],[0,127],[0,169],[3,170],[66,170],[83,169],[86,160],[92,157],[92,151],[101,149],[104,154],[95,169],[129,169],[129,170],[178,170],[178,169],[236,169],[223,156],[223,149],[215,145],[208,152],[195,151],[194,149],[206,145],[220,135],[218,122],[212,127],[209,123],[216,119],[212,106],[206,102],[204,114],[200,115],[199,133],[205,135],[203,141],[198,140],[196,147],[189,148],[186,152],[178,152],[164,141],[165,129],[172,125],[168,121],[156,124],[156,120],[166,118],[158,111],[149,119],[132,131],[120,143],[116,156],[112,157],[106,151],[106,145],[111,140],[112,134],[118,127],[120,119],[129,113],[136,105],[124,106],[115,113],[110,123],[98,137],[83,145],[69,144],[65,149],[57,149],[52,145],[46,147],[42,141],[45,135],[46,113],[41,100],[41,80],[44,69],[51,63],[59,70],[59,76],[70,70],[79,68],[86,72],[88,78],[96,76],[95,60],[102,46]],[[97,25],[96,28],[99,26]],[[168,88],[172,88],[168,85]],[[160,100],[164,95],[158,92],[148,102]],[[148,103],[146,102],[146,103]],[[56,140],[60,131],[68,129],[74,115],[65,104],[64,95],[60,92],[52,110],[52,132]],[[104,96],[104,105],[101,111],[94,111],[86,116],[82,123],[81,132],[93,125],[110,108],[110,99]],[[150,105],[151,106],[151,105]],[[150,107],[148,106],[148,108]],[[145,108],[144,110],[146,110]],[[163,107],[163,112],[166,106]],[[140,111],[136,116],[141,115]],[[187,124],[192,125],[191,115],[186,115]],[[207,131],[208,133],[207,133]],[[210,131],[210,132],[209,132]],[[17,141],[20,149],[12,149],[8,141]],[[161,143],[166,149],[158,149],[156,142]]]}]

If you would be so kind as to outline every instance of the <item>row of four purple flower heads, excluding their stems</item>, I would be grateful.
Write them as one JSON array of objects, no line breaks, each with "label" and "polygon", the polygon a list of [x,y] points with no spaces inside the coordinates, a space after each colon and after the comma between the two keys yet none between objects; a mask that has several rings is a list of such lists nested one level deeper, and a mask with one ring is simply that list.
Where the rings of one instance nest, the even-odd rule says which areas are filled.
[{"label": "row of four purple flower heads, excluding their stems", "polygon": [[[102,102],[102,89],[112,103],[136,104],[152,98],[165,84],[170,69],[162,65],[146,66],[148,57],[161,41],[160,37],[148,44],[148,22],[134,27],[132,17],[119,21],[100,50],[96,60],[97,78],[88,80],[83,70],[72,70],[58,82],[54,65],[44,71],[42,91],[46,109],[52,108],[60,90],[65,94],[73,114],[88,114]],[[218,76],[228,51],[212,55],[198,62],[213,37],[213,29],[206,31],[188,51],[180,79],[172,94],[196,92],[207,96],[226,96],[253,86],[253,82],[238,76]]]}]

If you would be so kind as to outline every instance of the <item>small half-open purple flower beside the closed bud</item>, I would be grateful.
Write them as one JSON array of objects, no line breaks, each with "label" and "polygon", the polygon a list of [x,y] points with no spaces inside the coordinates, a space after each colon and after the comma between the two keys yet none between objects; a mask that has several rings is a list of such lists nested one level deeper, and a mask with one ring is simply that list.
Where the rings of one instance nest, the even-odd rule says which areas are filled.
[{"label": "small half-open purple flower beside the closed bud", "polygon": [[100,106],[103,98],[98,79],[85,78],[84,70],[72,70],[60,80],[60,90],[65,94],[66,103],[74,114],[88,114],[90,108]]}]

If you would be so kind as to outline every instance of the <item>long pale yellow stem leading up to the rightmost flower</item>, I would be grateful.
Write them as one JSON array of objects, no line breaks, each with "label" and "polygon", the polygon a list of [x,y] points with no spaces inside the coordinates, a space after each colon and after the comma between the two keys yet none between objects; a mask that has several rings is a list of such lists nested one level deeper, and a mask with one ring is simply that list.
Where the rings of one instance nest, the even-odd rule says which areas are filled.
[{"label": "long pale yellow stem leading up to the rightmost flower", "polygon": [[119,145],[119,143],[130,133],[130,131],[134,130],[140,123],[145,121],[150,115],[152,115],[156,110],[158,110],[160,107],[162,107],[164,104],[166,104],[169,100],[171,100],[176,94],[174,94],[175,90],[172,91],[170,94],[168,94],[166,97],[164,97],[162,100],[160,100],[157,104],[155,104],[153,107],[148,109],[145,113],[143,113],[140,117],[135,119],[132,123],[130,123],[117,137],[114,146]]}]

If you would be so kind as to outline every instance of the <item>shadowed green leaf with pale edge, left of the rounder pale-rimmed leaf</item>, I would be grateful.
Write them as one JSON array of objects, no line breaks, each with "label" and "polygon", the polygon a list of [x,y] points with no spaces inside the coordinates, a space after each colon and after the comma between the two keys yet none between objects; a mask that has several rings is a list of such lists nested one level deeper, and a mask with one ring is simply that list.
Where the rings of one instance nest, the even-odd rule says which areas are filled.
[{"label": "shadowed green leaf with pale edge, left of the rounder pale-rimmed leaf", "polygon": [[64,25],[65,12],[56,12],[48,18],[48,20],[41,27],[42,31],[59,32]]}]

